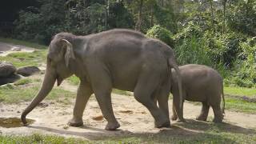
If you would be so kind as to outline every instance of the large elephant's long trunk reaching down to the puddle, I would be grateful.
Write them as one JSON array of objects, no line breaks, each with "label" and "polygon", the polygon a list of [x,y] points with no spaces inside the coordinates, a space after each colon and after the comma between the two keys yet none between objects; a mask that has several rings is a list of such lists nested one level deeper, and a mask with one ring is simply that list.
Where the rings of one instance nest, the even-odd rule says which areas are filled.
[{"label": "large elephant's long trunk reaching down to the puddle", "polygon": [[47,94],[50,93],[50,90],[54,87],[54,83],[56,81],[56,74],[54,72],[51,72],[49,68],[46,68],[46,74],[45,78],[42,82],[41,89],[39,90],[38,94],[32,102],[30,102],[30,105],[26,107],[26,109],[22,112],[22,123],[26,125],[26,114],[29,114],[31,110],[34,109],[35,106],[38,105],[38,103],[42,102],[44,98],[46,98]]}]

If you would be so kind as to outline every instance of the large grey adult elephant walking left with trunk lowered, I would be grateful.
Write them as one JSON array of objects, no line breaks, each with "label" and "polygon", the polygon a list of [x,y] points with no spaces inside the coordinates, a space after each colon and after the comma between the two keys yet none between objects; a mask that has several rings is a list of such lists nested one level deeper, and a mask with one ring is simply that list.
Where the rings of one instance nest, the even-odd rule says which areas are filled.
[{"label": "large grey adult elephant walking left with trunk lowered", "polygon": [[[173,50],[134,30],[108,30],[86,36],[56,34],[50,42],[41,90],[23,111],[22,122],[26,124],[26,114],[49,94],[56,80],[59,86],[64,78],[75,74],[81,82],[70,126],[82,126],[86,103],[95,94],[108,122],[106,130],[116,130],[120,125],[111,105],[112,88],[133,91],[138,102],[150,110],[156,127],[170,126],[171,68],[180,74]],[[181,88],[180,78],[178,82]],[[154,98],[158,99],[159,107]]]}]

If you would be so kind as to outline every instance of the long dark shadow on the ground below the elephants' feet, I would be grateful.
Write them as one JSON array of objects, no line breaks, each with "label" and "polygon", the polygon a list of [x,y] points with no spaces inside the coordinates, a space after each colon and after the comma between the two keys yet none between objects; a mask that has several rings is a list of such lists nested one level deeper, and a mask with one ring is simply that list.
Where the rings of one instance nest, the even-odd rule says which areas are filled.
[{"label": "long dark shadow on the ground below the elephants' feet", "polygon": [[79,136],[89,140],[123,140],[124,138],[136,138],[142,142],[230,142],[235,140],[223,136],[220,133],[234,134],[256,134],[256,130],[246,129],[240,126],[234,126],[229,123],[215,124],[212,122],[199,122],[188,119],[186,123],[174,123],[170,128],[159,129],[158,132],[133,133],[128,130],[108,131],[90,126],[81,126],[81,129],[90,130],[90,132],[75,132],[70,130],[57,130],[43,126],[28,126],[38,130],[46,130],[56,134],[69,134]]}]

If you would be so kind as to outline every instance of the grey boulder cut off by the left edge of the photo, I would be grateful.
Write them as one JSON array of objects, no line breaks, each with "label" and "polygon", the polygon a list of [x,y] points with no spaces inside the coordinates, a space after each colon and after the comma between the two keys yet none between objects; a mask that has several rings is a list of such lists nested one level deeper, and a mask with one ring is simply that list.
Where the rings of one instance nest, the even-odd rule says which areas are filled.
[{"label": "grey boulder cut off by the left edge of the photo", "polygon": [[0,77],[6,78],[10,74],[14,74],[16,67],[10,62],[0,62]]}]

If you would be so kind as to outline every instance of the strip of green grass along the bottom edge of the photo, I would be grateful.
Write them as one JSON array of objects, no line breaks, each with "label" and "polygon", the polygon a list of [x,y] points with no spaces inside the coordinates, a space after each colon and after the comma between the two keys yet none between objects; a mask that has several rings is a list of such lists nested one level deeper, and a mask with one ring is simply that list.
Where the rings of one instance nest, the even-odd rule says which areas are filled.
[{"label": "strip of green grass along the bottom edge of the photo", "polygon": [[[96,132],[97,133],[97,132]],[[101,134],[91,136],[94,140],[63,138],[56,135],[32,134],[30,136],[0,135],[2,143],[255,143],[256,130],[228,123],[214,124],[188,120],[176,123],[170,129],[158,133],[130,133],[115,131],[116,136]],[[85,133],[81,133],[85,135]],[[78,134],[78,135],[81,135]],[[105,135],[105,136],[104,136]],[[88,138],[88,137],[86,137]]]}]

